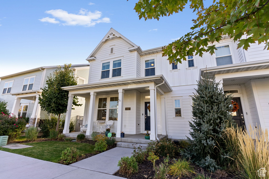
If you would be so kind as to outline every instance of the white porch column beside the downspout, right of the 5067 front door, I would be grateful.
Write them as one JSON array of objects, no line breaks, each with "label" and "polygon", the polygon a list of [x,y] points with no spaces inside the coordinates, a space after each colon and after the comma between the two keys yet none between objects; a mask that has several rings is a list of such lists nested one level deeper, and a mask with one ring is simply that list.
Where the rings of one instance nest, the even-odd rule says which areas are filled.
[{"label": "white porch column beside the downspout, right of the 5067 front door", "polygon": [[150,86],[150,140],[156,140],[155,133],[155,89]]}]

